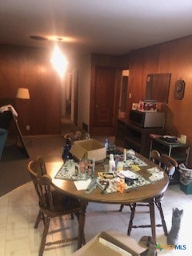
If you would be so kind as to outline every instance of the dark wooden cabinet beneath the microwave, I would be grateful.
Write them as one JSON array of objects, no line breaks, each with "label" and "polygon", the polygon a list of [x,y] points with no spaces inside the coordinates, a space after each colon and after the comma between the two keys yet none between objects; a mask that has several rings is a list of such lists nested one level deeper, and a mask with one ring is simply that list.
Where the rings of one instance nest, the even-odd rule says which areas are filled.
[{"label": "dark wooden cabinet beneath the microwave", "polygon": [[115,144],[126,149],[133,149],[146,158],[149,158],[150,134],[163,134],[163,129],[142,128],[140,126],[135,126],[128,119],[118,119]]}]

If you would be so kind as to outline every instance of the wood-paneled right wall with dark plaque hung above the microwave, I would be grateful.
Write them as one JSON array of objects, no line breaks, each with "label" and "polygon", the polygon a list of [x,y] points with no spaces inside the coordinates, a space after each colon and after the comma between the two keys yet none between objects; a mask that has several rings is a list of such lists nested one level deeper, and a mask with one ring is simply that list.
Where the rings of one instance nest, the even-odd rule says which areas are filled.
[{"label": "wood-paneled right wall with dark plaque hung above the microwave", "polygon": [[[190,145],[192,144],[191,45],[192,36],[189,36],[130,53],[130,92],[128,92],[132,94],[132,101],[138,102],[144,95],[146,74],[171,73],[168,104],[162,104],[162,110],[166,112],[166,133],[178,137],[185,134]],[[174,84],[178,79],[183,79],[186,82],[182,100],[174,99]],[[137,83],[142,84],[142,87],[136,87]],[[139,92],[136,88],[139,88]],[[130,110],[130,106],[128,110]],[[190,150],[189,159],[189,167],[192,167],[192,150]]]}]

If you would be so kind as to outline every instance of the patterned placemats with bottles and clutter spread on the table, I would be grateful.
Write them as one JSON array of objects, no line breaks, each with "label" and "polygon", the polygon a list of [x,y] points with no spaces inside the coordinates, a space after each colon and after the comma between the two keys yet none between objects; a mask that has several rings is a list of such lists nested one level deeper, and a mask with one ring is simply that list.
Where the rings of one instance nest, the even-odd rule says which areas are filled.
[{"label": "patterned placemats with bottles and clutter spread on the table", "polygon": [[117,191],[123,193],[163,178],[163,172],[158,170],[158,167],[147,169],[150,178],[142,177],[139,174],[142,166],[147,166],[147,164],[137,157],[134,150],[124,149],[123,152],[116,150],[114,154],[110,154],[110,158],[104,159],[103,171],[101,168],[97,177],[94,174],[95,159],[82,158],[78,162],[75,162],[74,159],[68,159],[58,170],[55,178],[72,181],[86,181],[89,179],[90,182],[86,183],[88,184],[86,189],[84,186],[80,186],[86,190],[86,194],[90,194],[96,186],[101,189],[102,194]]}]

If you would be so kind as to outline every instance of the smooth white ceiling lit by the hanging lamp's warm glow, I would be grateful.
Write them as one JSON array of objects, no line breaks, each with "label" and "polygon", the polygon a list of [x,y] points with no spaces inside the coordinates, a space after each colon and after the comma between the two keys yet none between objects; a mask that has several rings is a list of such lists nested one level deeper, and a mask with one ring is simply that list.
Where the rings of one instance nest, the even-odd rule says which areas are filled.
[{"label": "smooth white ceiling lit by the hanging lamp's warm glow", "polygon": [[[191,0],[1,0],[0,43],[127,54],[192,34]],[[34,40],[30,36],[49,40]]]}]

